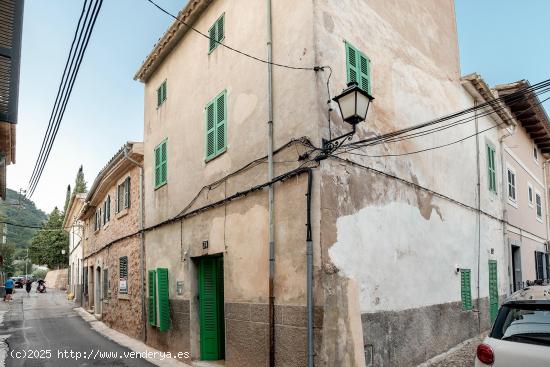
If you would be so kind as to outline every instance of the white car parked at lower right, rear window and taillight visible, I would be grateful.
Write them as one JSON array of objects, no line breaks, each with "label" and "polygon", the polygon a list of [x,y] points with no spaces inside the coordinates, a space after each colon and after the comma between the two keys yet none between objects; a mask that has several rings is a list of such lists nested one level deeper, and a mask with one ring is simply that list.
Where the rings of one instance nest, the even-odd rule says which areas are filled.
[{"label": "white car parked at lower right, rear window and taillight visible", "polygon": [[550,366],[550,285],[525,288],[502,304],[475,366]]}]

